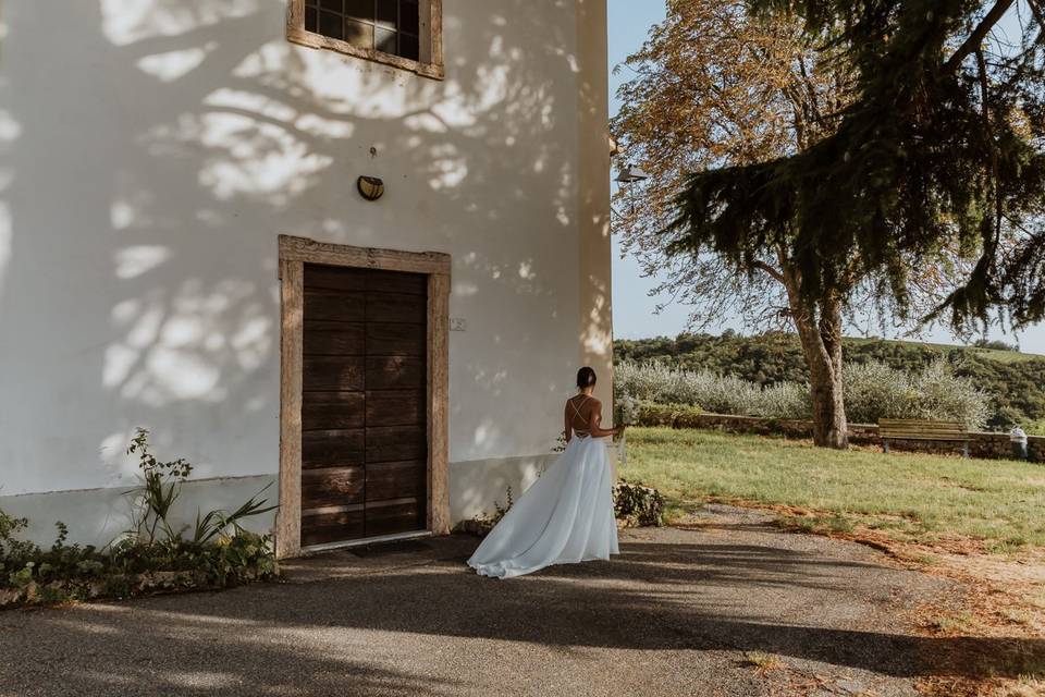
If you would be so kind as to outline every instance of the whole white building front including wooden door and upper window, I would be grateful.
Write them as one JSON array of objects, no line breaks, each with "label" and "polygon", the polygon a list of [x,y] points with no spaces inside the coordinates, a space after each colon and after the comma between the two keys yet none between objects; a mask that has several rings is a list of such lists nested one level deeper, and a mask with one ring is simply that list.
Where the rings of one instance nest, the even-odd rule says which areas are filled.
[{"label": "whole white building front including wooden door and upper window", "polygon": [[126,529],[137,427],[195,465],[186,517],[269,485],[286,555],[518,491],[580,365],[608,407],[604,2],[0,21],[0,509],[34,538]]}]

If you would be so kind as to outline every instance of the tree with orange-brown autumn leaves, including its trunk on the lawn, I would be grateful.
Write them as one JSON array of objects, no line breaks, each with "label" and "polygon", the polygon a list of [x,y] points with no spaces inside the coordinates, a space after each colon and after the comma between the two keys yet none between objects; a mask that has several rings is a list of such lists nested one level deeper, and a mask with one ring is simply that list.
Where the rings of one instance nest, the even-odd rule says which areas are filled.
[{"label": "tree with orange-brown autumn leaves, including its trunk on the lawn", "polygon": [[[661,280],[659,294],[692,308],[693,327],[740,317],[752,330],[796,331],[809,367],[815,440],[845,447],[843,330],[903,315],[911,302],[908,315],[938,304],[952,288],[944,278],[958,276],[942,271],[960,259],[942,254],[932,266],[905,269],[911,291],[902,305],[883,293],[881,274],[861,273],[856,258],[834,292],[808,299],[796,225],[767,231],[745,221],[742,232],[751,234],[743,240],[726,219],[704,224],[710,213],[672,227],[680,189],[685,211],[717,212],[720,201],[694,204],[693,196],[727,176],[740,188],[715,195],[746,203],[746,173],[806,152],[838,127],[855,72],[839,48],[817,47],[802,26],[796,16],[755,16],[745,0],[668,0],[665,22],[629,57],[635,76],[618,93],[614,134],[651,179],[641,195],[618,193],[624,212],[614,223],[623,247]],[[688,179],[697,171],[708,174]]]}]

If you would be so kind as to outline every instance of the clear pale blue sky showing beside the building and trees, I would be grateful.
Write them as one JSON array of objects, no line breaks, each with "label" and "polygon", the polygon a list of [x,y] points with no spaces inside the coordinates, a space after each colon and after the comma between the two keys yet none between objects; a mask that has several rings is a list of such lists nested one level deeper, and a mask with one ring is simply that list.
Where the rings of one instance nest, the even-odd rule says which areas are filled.
[{"label": "clear pale blue sky showing beside the building and trees", "polygon": [[[664,21],[663,0],[608,0],[610,10],[610,112],[616,113],[619,101],[617,87],[629,77],[627,69],[614,75],[613,69],[623,63],[646,40],[651,26]],[[626,155],[625,155],[626,157]],[[619,162],[617,163],[619,164]],[[614,171],[616,176],[616,171]],[[618,339],[642,339],[647,337],[675,337],[686,330],[689,309],[681,305],[668,305],[660,314],[655,311],[659,302],[665,298],[649,296],[656,281],[642,278],[635,259],[620,258],[617,241],[613,243],[613,329]],[[727,320],[721,327],[709,331],[717,333],[732,328],[741,330],[739,321]],[[1006,343],[1019,343],[1024,353],[1045,354],[1045,326],[1032,327],[1018,337],[994,330],[989,339],[999,339]],[[926,341],[937,343],[960,343],[946,330],[932,330],[924,334]]]}]

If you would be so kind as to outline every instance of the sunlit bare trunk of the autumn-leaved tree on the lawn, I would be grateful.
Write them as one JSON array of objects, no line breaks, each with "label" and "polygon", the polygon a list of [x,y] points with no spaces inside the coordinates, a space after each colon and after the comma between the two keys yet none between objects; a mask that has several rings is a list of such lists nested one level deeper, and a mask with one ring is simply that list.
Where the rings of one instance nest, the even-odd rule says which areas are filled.
[{"label": "sunlit bare trunk of the autumn-leaved tree on the lawn", "polygon": [[841,304],[822,302],[819,307],[808,308],[799,297],[794,273],[785,267],[783,276],[791,321],[809,366],[813,442],[822,448],[845,450],[849,447],[849,429],[841,387]]}]

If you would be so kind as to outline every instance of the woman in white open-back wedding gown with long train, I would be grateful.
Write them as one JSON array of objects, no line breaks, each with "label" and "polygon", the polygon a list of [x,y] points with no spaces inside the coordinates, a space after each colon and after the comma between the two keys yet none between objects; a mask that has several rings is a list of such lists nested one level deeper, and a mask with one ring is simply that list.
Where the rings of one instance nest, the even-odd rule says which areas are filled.
[{"label": "woman in white open-back wedding gown with long train", "polygon": [[550,566],[608,560],[617,549],[613,481],[602,439],[624,426],[601,427],[591,395],[595,371],[577,371],[580,393],[566,402],[566,451],[515,502],[468,560],[483,576],[511,578]]}]

